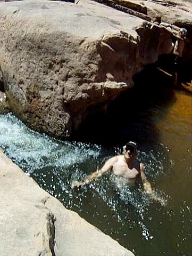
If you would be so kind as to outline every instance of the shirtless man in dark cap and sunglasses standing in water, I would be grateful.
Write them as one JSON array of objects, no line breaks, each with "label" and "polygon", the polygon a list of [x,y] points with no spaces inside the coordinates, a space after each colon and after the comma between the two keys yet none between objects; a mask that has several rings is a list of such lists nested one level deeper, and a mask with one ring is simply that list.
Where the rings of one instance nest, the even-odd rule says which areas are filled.
[{"label": "shirtless man in dark cap and sunglasses standing in water", "polygon": [[127,184],[135,184],[136,180],[140,179],[143,182],[144,189],[147,194],[151,195],[152,198],[162,201],[161,198],[158,198],[151,187],[151,184],[146,178],[144,172],[144,164],[140,163],[137,159],[137,143],[133,141],[129,141],[123,147],[123,154],[111,157],[108,159],[103,167],[89,175],[86,180],[76,182],[72,185],[72,187],[79,187],[86,185],[101,177],[106,172],[112,170],[113,174],[117,177],[123,177]]}]

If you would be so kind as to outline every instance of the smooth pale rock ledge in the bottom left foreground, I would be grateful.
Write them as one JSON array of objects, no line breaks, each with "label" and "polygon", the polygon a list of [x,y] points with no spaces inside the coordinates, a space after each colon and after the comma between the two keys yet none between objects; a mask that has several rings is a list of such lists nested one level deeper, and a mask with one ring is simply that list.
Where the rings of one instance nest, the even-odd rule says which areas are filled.
[{"label": "smooth pale rock ledge in the bottom left foreground", "polygon": [[66,210],[0,150],[1,256],[133,256]]}]

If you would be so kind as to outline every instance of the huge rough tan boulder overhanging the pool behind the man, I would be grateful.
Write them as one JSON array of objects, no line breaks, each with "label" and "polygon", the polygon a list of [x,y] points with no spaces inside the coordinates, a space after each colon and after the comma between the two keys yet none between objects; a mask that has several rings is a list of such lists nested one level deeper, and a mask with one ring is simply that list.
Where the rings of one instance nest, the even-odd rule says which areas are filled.
[{"label": "huge rough tan boulder overhanging the pool behind the man", "polygon": [[173,31],[137,16],[144,19],[89,0],[0,3],[0,66],[13,113],[67,138],[105,111],[133,74],[172,51]]}]

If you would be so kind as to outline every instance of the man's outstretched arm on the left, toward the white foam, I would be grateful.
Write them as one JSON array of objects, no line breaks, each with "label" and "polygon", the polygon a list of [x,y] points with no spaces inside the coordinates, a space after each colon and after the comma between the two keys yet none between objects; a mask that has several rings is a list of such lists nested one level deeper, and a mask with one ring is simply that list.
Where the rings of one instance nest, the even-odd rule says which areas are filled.
[{"label": "man's outstretched arm on the left, toward the white foam", "polygon": [[74,188],[83,186],[89,184],[91,181],[97,179],[98,177],[101,177],[103,174],[105,174],[106,172],[110,171],[113,168],[114,161],[115,157],[108,159],[100,170],[90,174],[87,179],[72,184],[71,187]]}]

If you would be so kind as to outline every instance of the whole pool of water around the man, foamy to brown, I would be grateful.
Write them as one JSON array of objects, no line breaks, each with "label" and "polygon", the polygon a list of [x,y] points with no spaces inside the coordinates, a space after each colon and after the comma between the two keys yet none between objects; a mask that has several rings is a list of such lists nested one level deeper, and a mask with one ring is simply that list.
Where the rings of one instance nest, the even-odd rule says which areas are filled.
[{"label": "whole pool of water around the man, foamy to brown", "polygon": [[[122,100],[119,109],[111,106],[113,118],[107,129],[112,129],[106,129],[110,143],[106,142],[107,136],[102,143],[99,133],[94,135],[101,139],[91,143],[55,140],[31,131],[12,114],[6,114],[0,115],[0,146],[40,187],[136,256],[188,256],[191,96],[169,90],[155,95],[143,100],[140,95],[129,103]],[[118,114],[120,109],[122,113]],[[71,189],[73,181],[86,178],[107,158],[121,154],[123,141],[127,140],[139,143],[138,159],[145,163],[147,178],[164,204],[149,198],[141,184],[123,187],[110,174]]]}]

